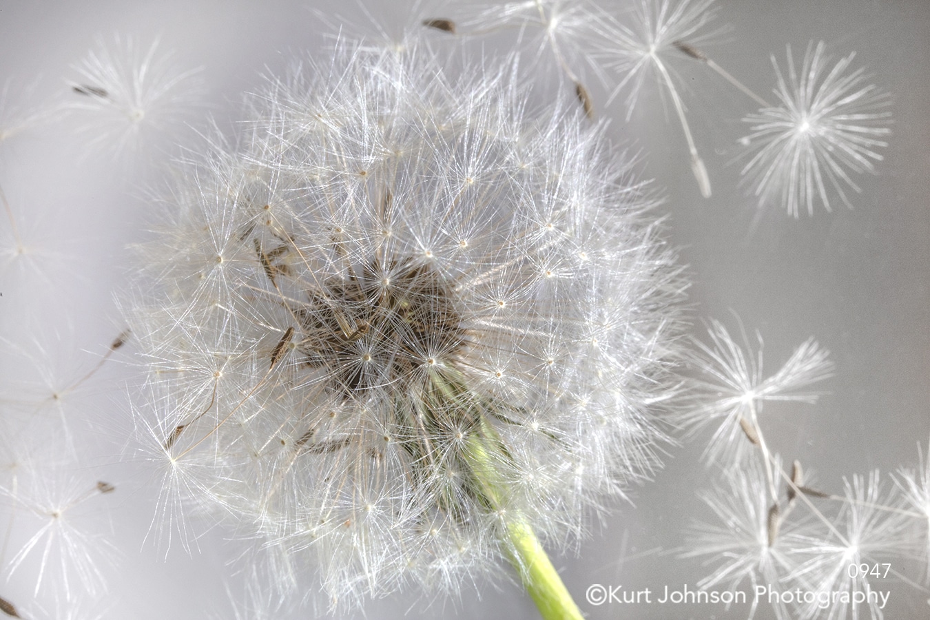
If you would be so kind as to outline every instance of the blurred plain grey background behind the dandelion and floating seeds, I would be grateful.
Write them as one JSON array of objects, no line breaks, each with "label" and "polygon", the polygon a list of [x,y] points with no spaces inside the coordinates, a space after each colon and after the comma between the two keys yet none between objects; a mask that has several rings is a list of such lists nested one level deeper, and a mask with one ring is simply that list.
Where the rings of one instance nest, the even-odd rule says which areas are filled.
[{"label": "blurred plain grey background behind the dandelion and floating seeds", "polygon": [[[813,405],[767,405],[764,430],[773,450],[815,472],[818,488],[842,493],[852,474],[916,467],[930,439],[930,3],[719,0],[713,7],[714,35],[702,49],[764,96],[775,86],[772,55],[784,67],[787,45],[800,62],[808,44],[821,40],[834,59],[857,52],[853,68],[867,67],[870,80],[892,94],[889,146],[877,175],[857,176],[862,191],[851,193],[855,208],[838,202],[832,213],[818,207],[813,217],[795,219],[777,208],[760,211],[737,187],[737,140],[746,133],[740,119],[755,104],[703,64],[684,56],[673,62],[713,181],[708,199],[698,191],[681,126],[661,88],[647,84],[627,121],[622,97],[607,103],[609,86],[593,78],[587,84],[611,140],[637,153],[641,175],[654,178],[664,196],[658,210],[670,216],[668,237],[694,282],[695,335],[714,318],[734,333],[741,323],[752,341],[758,330],[770,372],[809,336],[830,350],[835,376],[817,386],[829,393]],[[459,8],[409,8],[396,0],[0,0],[0,189],[7,211],[0,214],[0,416],[44,420],[30,425],[28,436],[11,431],[0,438],[4,504],[19,507],[0,515],[0,597],[23,617],[265,617],[241,603],[233,612],[231,598],[242,600],[244,592],[243,576],[230,564],[237,557],[233,533],[194,520],[190,552],[179,545],[165,551],[147,539],[158,493],[153,473],[133,459],[129,386],[139,370],[131,341],[110,350],[126,328],[117,299],[132,270],[127,245],[146,238],[160,206],[151,196],[165,182],[164,165],[179,156],[178,145],[209,131],[207,117],[230,135],[243,116],[242,93],[254,91],[260,75],[326,54],[339,27],[349,36],[400,40],[419,33],[420,19],[454,16]],[[141,54],[157,38],[159,54],[169,53],[179,73],[199,69],[189,97],[177,102],[178,114],[164,119],[173,123],[140,129],[122,149],[116,121],[73,109],[87,99],[73,90],[83,84],[75,67],[99,49],[98,39],[118,49],[116,36],[131,36]],[[498,33],[476,38],[472,48],[493,54],[513,43]],[[46,441],[47,429],[62,424],[73,437],[67,448]],[[678,558],[689,525],[707,515],[697,492],[720,474],[699,458],[708,437],[665,446],[665,468],[631,490],[631,505],[593,523],[577,554],[553,557],[589,617],[670,613],[655,604],[592,606],[583,600],[591,584],[656,590],[694,586],[709,573],[699,560]],[[61,518],[70,534],[11,500],[25,496],[16,473],[24,467],[56,472],[29,492],[70,498]],[[101,492],[99,481],[115,492]],[[65,582],[54,553],[44,555],[56,535],[96,560],[105,589]],[[22,554],[24,547],[32,551]],[[895,568],[916,584],[896,580],[885,617],[927,617],[930,594],[920,587],[920,565]],[[67,588],[85,591],[66,600]],[[743,618],[750,609],[697,605],[672,613]],[[417,593],[400,593],[349,615],[363,614],[538,617],[520,587],[508,583],[478,583],[460,600],[430,606]],[[767,608],[757,613],[770,616]]]}]

